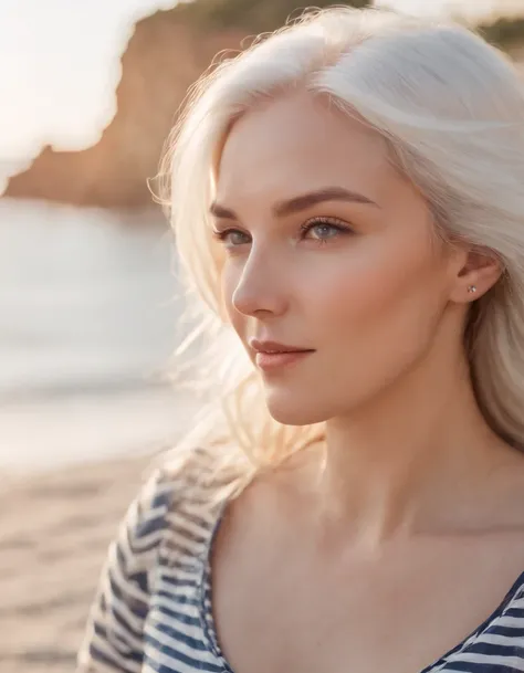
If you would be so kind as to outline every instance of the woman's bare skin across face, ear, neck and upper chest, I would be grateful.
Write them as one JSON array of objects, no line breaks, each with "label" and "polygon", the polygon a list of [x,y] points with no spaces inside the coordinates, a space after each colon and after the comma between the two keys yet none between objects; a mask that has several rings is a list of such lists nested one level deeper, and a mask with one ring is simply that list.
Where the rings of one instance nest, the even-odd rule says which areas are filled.
[{"label": "woman's bare skin across face, ear, neck and upper chest", "polygon": [[[275,212],[331,187],[359,202]],[[436,236],[384,140],[306,92],[235,123],[212,212],[253,364],[252,336],[314,349],[261,372],[270,412],[327,428],[228,509],[222,650],[237,673],[420,672],[524,569],[524,458],[483,419],[462,337],[500,270]]]}]

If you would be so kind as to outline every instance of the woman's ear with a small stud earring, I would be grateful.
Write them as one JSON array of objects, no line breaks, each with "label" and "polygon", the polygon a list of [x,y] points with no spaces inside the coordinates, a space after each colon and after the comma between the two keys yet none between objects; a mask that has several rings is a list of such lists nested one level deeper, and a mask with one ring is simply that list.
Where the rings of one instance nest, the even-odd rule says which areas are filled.
[{"label": "woman's ear with a small stud earring", "polygon": [[451,299],[465,304],[484,295],[502,275],[502,263],[489,250],[469,250],[457,276]]}]

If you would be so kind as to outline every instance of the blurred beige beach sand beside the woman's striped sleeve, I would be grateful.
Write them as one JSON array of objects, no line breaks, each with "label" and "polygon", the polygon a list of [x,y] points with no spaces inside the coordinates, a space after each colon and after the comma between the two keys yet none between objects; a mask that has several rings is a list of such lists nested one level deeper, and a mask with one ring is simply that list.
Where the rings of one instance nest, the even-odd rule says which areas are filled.
[{"label": "blurred beige beach sand beside the woman's striped sleeve", "polygon": [[0,671],[71,673],[107,546],[151,459],[2,476]]}]

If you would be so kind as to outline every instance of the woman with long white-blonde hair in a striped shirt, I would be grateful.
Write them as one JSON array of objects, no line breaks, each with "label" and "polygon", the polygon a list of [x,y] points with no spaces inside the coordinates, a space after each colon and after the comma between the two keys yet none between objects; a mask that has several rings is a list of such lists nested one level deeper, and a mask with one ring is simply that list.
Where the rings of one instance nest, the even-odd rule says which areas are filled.
[{"label": "woman with long white-blonde hair in a striped shirt", "polygon": [[523,103],[465,29],[349,9],[197,86],[172,221],[226,423],[132,505],[80,671],[524,670]]}]

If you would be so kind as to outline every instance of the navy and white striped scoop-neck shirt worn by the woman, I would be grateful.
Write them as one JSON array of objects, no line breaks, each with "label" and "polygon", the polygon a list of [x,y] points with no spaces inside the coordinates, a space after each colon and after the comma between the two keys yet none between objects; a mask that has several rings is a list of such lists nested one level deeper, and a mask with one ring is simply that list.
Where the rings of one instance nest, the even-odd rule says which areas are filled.
[{"label": "navy and white striped scoop-neck shirt worn by the woman", "polygon": [[[111,545],[76,673],[233,673],[211,610],[210,553],[227,497],[159,470]],[[201,475],[201,469],[199,469]],[[213,488],[210,492],[209,488]],[[524,671],[524,572],[493,614],[421,673]]]}]

